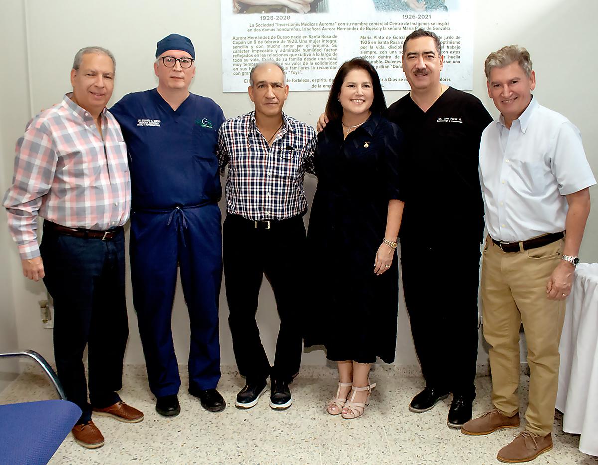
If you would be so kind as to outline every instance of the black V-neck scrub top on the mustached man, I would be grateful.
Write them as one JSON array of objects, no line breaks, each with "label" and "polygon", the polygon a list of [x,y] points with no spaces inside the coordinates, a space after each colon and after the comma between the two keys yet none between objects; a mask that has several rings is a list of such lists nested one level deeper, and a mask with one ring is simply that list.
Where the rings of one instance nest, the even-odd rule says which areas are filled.
[{"label": "black V-neck scrub top on the mustached man", "polygon": [[423,112],[410,94],[387,117],[405,134],[401,238],[476,238],[484,231],[478,164],[492,117],[477,97],[449,87]]}]

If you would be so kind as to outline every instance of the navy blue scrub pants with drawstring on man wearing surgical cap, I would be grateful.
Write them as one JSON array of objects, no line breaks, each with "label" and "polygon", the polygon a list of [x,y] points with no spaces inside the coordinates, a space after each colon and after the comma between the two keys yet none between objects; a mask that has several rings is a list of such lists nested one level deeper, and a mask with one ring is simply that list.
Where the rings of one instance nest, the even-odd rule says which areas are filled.
[{"label": "navy blue scrub pants with drawstring on man wearing surgical cap", "polygon": [[218,205],[133,211],[130,259],[133,305],[152,393],[169,396],[181,387],[171,325],[177,266],[191,324],[190,388],[215,388],[220,379],[222,281]]}]

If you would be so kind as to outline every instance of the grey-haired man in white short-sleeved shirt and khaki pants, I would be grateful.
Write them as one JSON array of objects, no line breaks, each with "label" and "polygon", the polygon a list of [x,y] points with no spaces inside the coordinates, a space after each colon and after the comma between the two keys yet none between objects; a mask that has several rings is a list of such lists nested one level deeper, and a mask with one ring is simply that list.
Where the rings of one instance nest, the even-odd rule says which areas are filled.
[{"label": "grey-haired man in white short-sleeved shirt and khaki pants", "polygon": [[[480,178],[489,236],[483,253],[484,337],[490,348],[495,409],[462,432],[519,427],[519,329],[530,368],[526,429],[498,452],[528,461],[552,448],[565,299],[596,181],[579,130],[539,105],[529,53],[510,45],[486,59],[488,93],[501,111],[483,132]],[[566,231],[566,232],[565,232]]]}]

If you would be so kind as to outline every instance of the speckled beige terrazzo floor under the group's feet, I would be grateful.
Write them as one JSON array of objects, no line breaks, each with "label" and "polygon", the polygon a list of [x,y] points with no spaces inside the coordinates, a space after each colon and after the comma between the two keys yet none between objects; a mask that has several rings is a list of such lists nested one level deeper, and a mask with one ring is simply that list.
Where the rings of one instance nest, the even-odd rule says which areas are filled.
[{"label": "speckled beige terrazzo floor under the group's feet", "polygon": [[[184,367],[181,367],[181,374]],[[69,435],[51,464],[499,464],[496,452],[510,442],[513,430],[488,436],[465,436],[446,426],[450,397],[423,414],[407,410],[413,394],[423,387],[420,377],[393,367],[376,366],[377,383],[363,417],[343,420],[325,411],[335,390],[335,371],[304,368],[291,384],[293,405],[273,411],[267,394],[252,409],[234,407],[243,379],[233,367],[224,367],[219,391],[227,401],[223,412],[205,411],[187,393],[183,375],[179,399],[182,412],[167,419],[155,412],[143,366],[126,366],[121,397],[141,409],[145,418],[126,424],[107,417],[94,422],[105,436],[99,449],[84,449]],[[521,377],[526,387],[527,377]],[[184,388],[185,387],[185,388]],[[477,379],[474,415],[490,405],[490,378]],[[526,388],[522,389],[523,393]],[[0,393],[0,403],[56,397],[44,376],[28,370]],[[526,399],[521,400],[522,406]],[[521,409],[523,412],[523,407]],[[578,436],[563,433],[562,417],[554,423],[554,448],[534,465],[598,465],[598,457],[578,451]]]}]

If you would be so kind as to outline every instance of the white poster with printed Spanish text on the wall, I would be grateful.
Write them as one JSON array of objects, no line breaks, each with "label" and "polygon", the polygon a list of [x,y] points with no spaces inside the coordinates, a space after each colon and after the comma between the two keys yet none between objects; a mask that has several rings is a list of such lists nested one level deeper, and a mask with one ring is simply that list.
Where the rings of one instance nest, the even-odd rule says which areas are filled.
[{"label": "white poster with printed Spanish text on the wall", "polygon": [[292,90],[328,91],[353,57],[385,90],[408,90],[402,44],[416,29],[440,38],[441,82],[472,90],[473,0],[221,0],[222,90],[245,92],[249,71],[274,60]]}]

